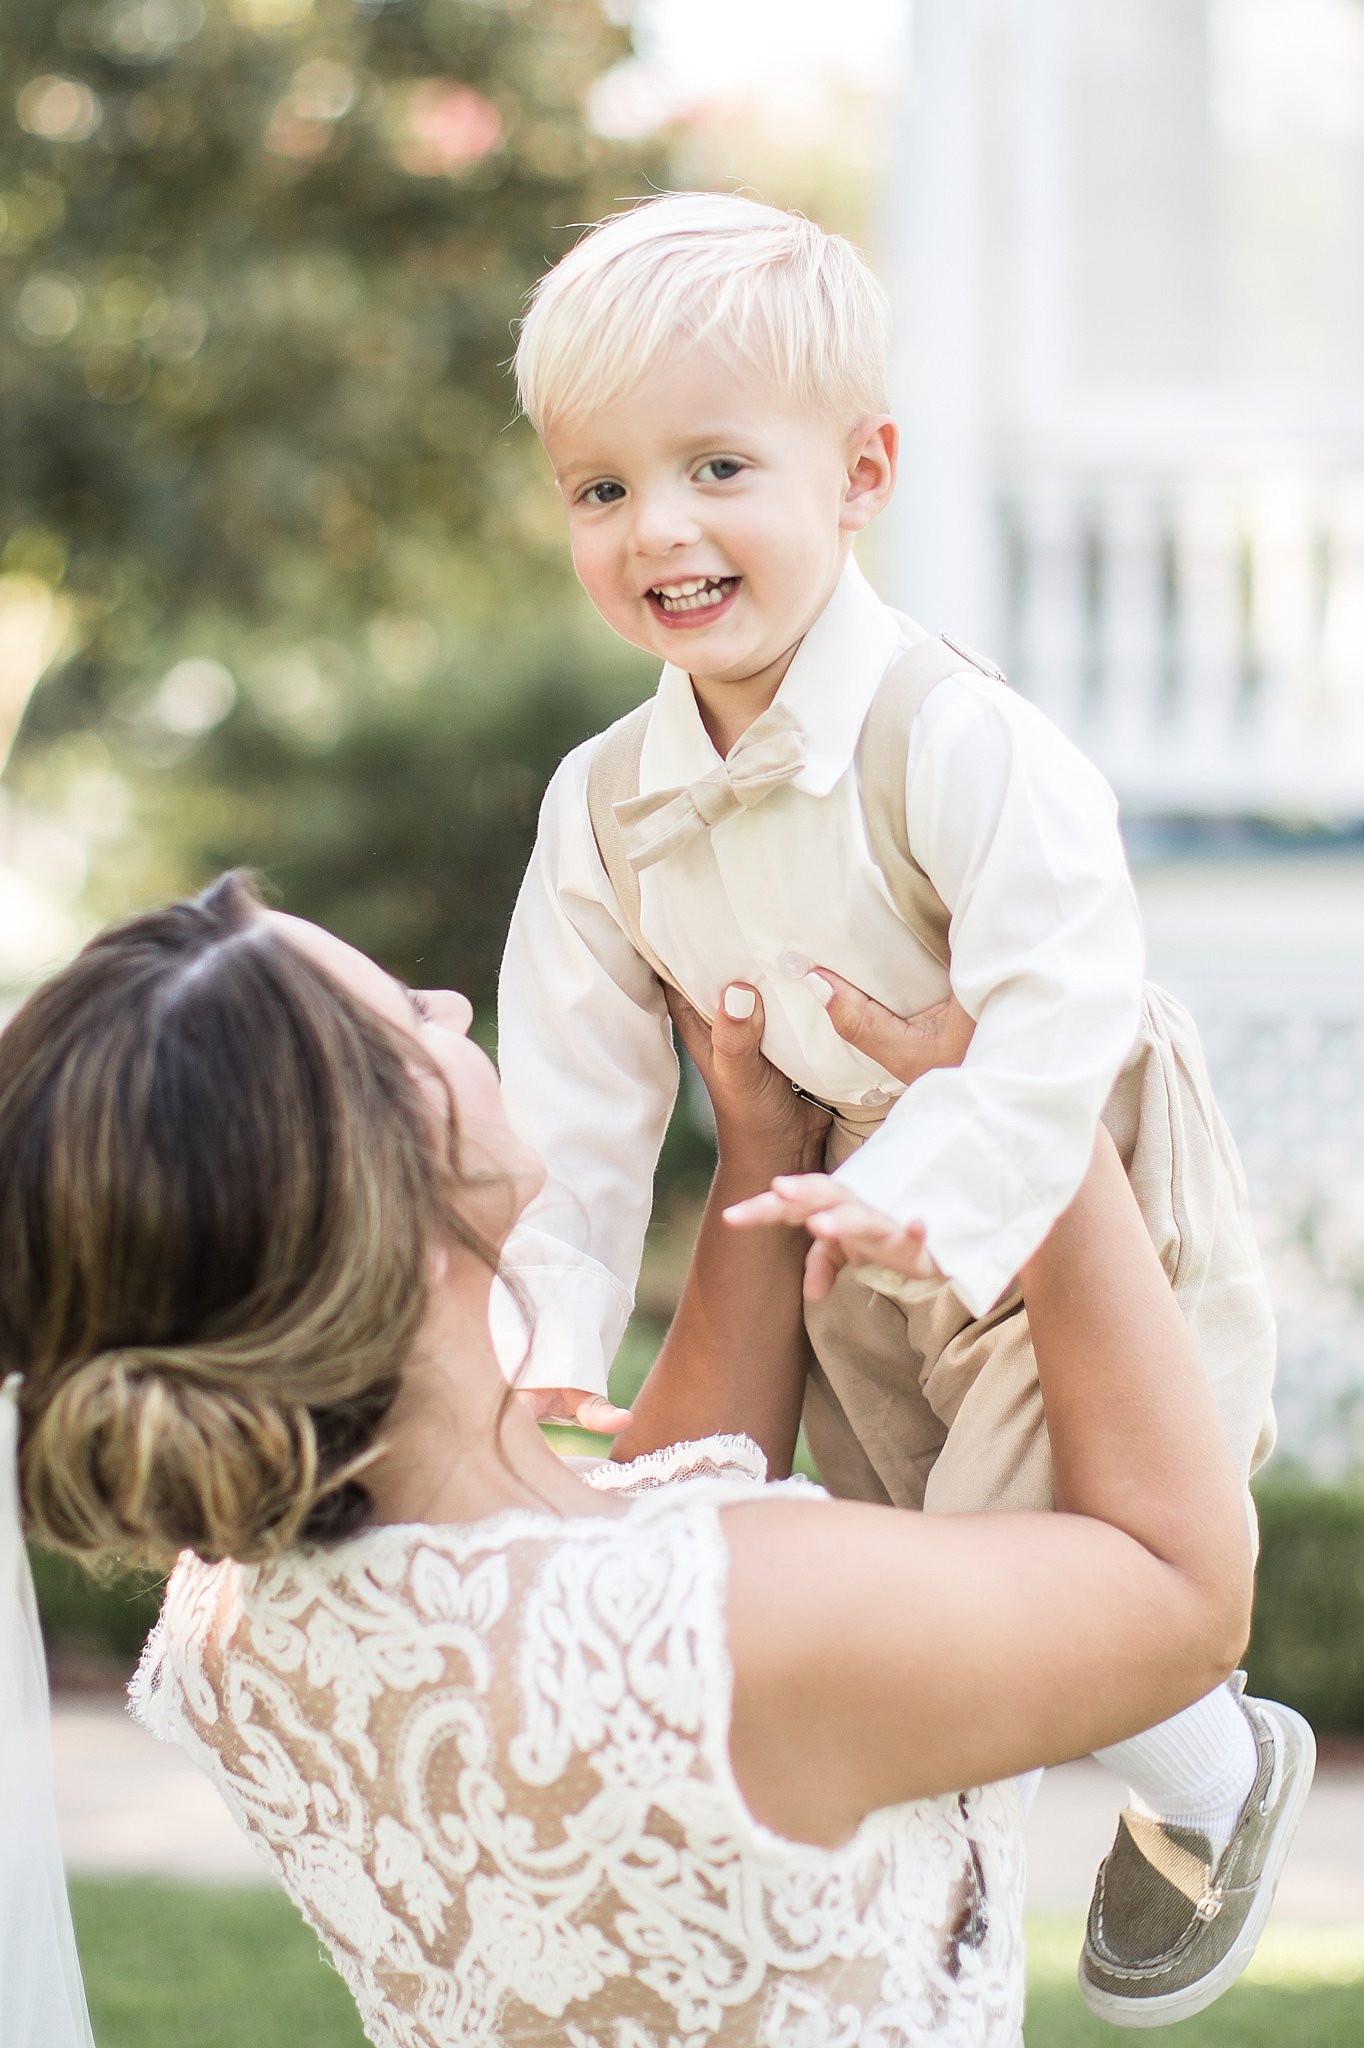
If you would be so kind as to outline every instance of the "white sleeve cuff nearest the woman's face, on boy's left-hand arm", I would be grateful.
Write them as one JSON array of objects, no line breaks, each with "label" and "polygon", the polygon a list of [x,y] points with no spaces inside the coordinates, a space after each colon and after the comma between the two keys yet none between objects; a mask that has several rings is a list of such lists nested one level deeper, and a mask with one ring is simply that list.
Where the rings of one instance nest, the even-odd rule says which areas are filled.
[{"label": "white sleeve cuff nearest the woman's face, on boy's left-hand arm", "polygon": [[592,1260],[549,1264],[512,1255],[506,1270],[516,1292],[504,1280],[494,1282],[487,1323],[508,1380],[604,1395],[633,1307],[621,1282]]}]

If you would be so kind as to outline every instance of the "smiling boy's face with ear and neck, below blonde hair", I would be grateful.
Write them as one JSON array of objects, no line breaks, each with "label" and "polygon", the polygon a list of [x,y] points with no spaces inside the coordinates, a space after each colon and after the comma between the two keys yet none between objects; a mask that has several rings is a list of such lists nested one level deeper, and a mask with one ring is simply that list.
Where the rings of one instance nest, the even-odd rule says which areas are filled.
[{"label": "smiling boy's face with ear and neck, below blonde hair", "polygon": [[676,344],[625,397],[545,432],[573,567],[623,639],[756,715],[887,502],[895,428],[850,432],[709,346]]}]

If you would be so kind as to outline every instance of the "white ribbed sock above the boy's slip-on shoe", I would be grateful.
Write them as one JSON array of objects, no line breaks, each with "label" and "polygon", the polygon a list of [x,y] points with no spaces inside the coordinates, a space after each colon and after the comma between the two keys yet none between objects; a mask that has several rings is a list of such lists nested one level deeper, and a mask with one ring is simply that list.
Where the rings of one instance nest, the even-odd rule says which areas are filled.
[{"label": "white ribbed sock above the boy's slip-on shoe", "polygon": [[1229,1686],[1094,1755],[1126,1780],[1137,1812],[1192,1827],[1214,1849],[1231,1841],[1260,1769],[1251,1724]]}]

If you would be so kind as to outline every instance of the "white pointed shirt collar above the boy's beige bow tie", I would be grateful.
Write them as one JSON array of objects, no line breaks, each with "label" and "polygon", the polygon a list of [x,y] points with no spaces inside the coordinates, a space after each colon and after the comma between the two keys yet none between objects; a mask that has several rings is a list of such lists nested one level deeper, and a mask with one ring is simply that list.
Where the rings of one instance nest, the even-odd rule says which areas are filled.
[{"label": "white pointed shirt collar above the boy's beige bow tie", "polygon": [[[807,760],[795,778],[797,788],[827,797],[846,774],[877,684],[891,655],[911,637],[915,629],[905,631],[850,555],[774,698],[795,715],[805,735]],[[668,662],[639,758],[639,793],[696,782],[713,768],[715,748],[700,723],[692,680]]]}]

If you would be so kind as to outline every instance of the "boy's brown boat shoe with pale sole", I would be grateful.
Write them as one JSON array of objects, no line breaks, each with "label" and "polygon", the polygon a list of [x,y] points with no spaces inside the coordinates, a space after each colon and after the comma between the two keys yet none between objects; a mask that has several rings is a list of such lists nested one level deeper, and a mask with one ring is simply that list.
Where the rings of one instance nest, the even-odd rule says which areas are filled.
[{"label": "boy's brown boat shoe with pale sole", "polygon": [[[1237,1673],[1239,1688],[1245,1675]],[[1255,1954],[1313,1782],[1317,1743],[1290,1706],[1245,1700],[1255,1782],[1221,1855],[1206,1835],[1131,1808],[1090,1901],[1079,1995],[1116,2028],[1165,2028],[1221,1999]]]}]

